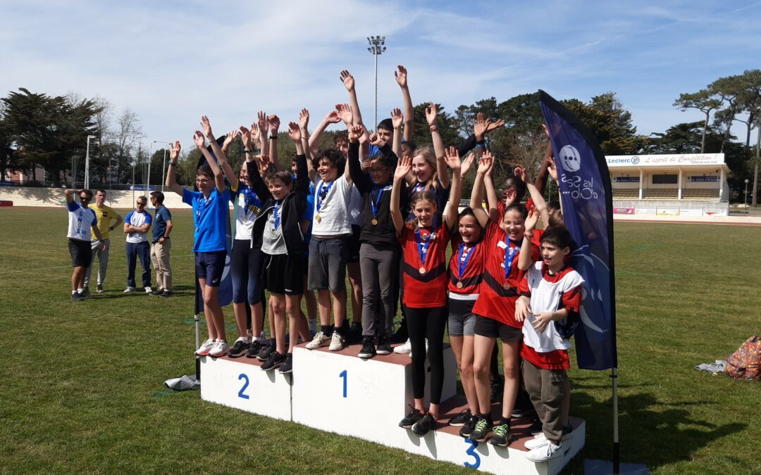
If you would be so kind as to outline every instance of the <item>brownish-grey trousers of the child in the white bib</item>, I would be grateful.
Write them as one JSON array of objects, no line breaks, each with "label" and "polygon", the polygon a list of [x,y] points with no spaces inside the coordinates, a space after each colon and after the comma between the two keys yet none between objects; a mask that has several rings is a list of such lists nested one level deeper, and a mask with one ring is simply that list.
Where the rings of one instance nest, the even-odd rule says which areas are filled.
[{"label": "brownish-grey trousers of the child in the white bib", "polygon": [[523,360],[526,391],[537,416],[542,421],[542,431],[553,444],[559,444],[563,435],[566,400],[571,397],[571,384],[565,369],[542,369],[526,359]]}]

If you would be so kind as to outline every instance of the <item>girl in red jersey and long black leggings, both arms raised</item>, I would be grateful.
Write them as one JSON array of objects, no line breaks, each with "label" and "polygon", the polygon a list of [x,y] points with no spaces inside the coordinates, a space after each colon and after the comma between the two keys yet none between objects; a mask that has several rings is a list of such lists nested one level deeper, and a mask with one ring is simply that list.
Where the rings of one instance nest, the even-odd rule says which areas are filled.
[{"label": "girl in red jersey and long black leggings, both arms raised", "polygon": [[[412,396],[415,407],[400,422],[423,436],[439,416],[441,388],[444,385],[444,326],[447,323],[447,242],[451,227],[457,222],[457,203],[462,193],[460,155],[454,147],[446,154],[447,166],[453,171],[452,191],[443,222],[434,225],[438,211],[435,196],[423,191],[412,195],[415,220],[405,222],[400,209],[403,180],[412,166],[412,159],[399,160],[391,188],[391,219],[402,245],[404,299],[407,331],[412,345]],[[431,365],[431,407],[423,407],[425,393],[425,339],[428,338],[428,362]]]}]

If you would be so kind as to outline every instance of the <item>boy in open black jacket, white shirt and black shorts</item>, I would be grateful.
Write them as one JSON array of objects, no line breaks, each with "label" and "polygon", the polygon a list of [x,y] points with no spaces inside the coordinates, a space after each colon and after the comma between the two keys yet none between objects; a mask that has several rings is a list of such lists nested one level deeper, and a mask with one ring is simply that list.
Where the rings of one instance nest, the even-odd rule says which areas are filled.
[{"label": "boy in open black jacket, white shirt and black shorts", "polygon": [[[269,157],[262,156],[260,173],[251,174],[251,187],[266,200],[262,214],[256,220],[253,233],[263,233],[262,252],[266,255],[266,285],[269,307],[272,309],[275,351],[261,366],[264,371],[275,368],[282,373],[293,369],[293,348],[298,335],[307,331],[307,321],[301,314],[301,293],[304,289],[301,261],[307,250],[301,231],[301,217],[307,206],[309,179],[307,157],[301,142],[301,131],[291,122],[288,135],[296,146],[296,179],[285,170],[269,172]],[[266,182],[264,181],[266,179]],[[285,350],[285,316],[290,319],[288,352]]]}]

